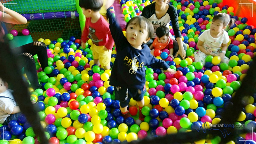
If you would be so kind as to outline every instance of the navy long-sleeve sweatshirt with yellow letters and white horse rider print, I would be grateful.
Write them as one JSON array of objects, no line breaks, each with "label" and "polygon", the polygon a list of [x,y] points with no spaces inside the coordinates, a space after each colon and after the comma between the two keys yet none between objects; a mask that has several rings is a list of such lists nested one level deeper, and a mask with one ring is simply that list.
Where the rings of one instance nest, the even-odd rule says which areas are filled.
[{"label": "navy long-sleeve sweatshirt with yellow letters and white horse rider print", "polygon": [[146,82],[144,65],[163,68],[164,70],[169,68],[169,65],[151,55],[146,44],[141,45],[141,50],[132,47],[109,9],[107,10],[107,16],[109,18],[109,28],[116,44],[116,60],[112,67],[109,84],[143,89]]}]

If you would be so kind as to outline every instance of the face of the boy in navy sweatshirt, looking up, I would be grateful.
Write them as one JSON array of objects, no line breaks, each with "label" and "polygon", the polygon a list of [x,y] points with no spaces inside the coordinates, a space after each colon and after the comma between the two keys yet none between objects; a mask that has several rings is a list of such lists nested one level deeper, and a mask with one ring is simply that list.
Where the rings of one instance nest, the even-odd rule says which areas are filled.
[{"label": "face of the boy in navy sweatshirt, looking up", "polygon": [[150,38],[143,24],[129,24],[126,29],[126,39],[134,48],[140,48],[141,44],[147,43]]}]

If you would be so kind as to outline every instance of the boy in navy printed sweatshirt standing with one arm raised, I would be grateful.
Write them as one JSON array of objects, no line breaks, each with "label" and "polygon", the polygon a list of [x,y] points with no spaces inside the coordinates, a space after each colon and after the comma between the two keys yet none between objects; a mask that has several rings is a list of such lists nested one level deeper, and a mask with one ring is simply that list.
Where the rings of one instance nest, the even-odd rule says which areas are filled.
[{"label": "boy in navy printed sweatshirt standing with one arm raised", "polygon": [[175,74],[163,60],[156,59],[150,54],[146,43],[153,36],[154,28],[148,19],[143,16],[132,18],[126,25],[126,37],[123,35],[119,23],[109,11],[114,0],[106,3],[107,16],[109,18],[109,29],[116,44],[116,60],[113,64],[110,85],[114,86],[116,99],[120,101],[120,110],[123,117],[130,117],[127,106],[130,99],[136,100],[139,105],[139,119],[144,121],[141,108],[144,107],[145,69],[144,65],[151,65],[155,68],[163,68]]}]

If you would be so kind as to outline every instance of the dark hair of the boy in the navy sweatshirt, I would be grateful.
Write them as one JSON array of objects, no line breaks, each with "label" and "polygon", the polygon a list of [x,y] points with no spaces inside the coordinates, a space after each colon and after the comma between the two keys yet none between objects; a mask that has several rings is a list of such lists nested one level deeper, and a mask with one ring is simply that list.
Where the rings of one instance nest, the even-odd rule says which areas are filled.
[{"label": "dark hair of the boy in the navy sweatshirt", "polygon": [[130,25],[137,25],[139,24],[141,27],[141,24],[144,24],[144,28],[146,28],[148,30],[148,37],[152,38],[153,33],[154,33],[154,27],[152,25],[152,23],[145,17],[143,16],[136,16],[133,17],[131,20],[129,20],[126,24],[125,29],[127,29],[127,27]]}]

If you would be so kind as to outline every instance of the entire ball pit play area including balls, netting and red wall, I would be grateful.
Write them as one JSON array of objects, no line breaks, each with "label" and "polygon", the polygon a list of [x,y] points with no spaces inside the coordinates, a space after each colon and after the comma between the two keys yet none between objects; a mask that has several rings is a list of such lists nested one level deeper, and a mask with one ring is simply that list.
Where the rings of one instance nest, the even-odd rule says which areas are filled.
[{"label": "entire ball pit play area including balls, netting and red wall", "polygon": [[[47,45],[49,67],[42,71],[34,56],[42,88],[28,91],[31,100],[36,100],[35,108],[49,143],[256,144],[255,0],[170,0],[177,9],[187,58],[172,59],[169,51],[154,52],[156,58],[177,71],[174,75],[144,66],[144,122],[138,119],[138,105],[133,99],[129,103],[132,117],[124,120],[114,87],[109,85],[111,70],[94,65],[91,39],[85,48],[80,47],[85,16],[78,2],[5,1],[7,8],[28,20],[25,25],[5,24],[11,47],[33,41]],[[125,28],[151,3],[116,0],[110,11]],[[106,15],[104,6],[100,12]],[[210,28],[212,18],[220,12],[236,19],[227,29],[225,55],[229,63],[220,63],[218,56],[207,56],[205,65],[194,62],[198,36]],[[170,32],[174,35],[171,23]],[[111,67],[115,58],[114,46]],[[213,128],[215,124],[228,126]],[[0,124],[0,144],[38,144],[38,138],[23,114],[18,121]]]}]

